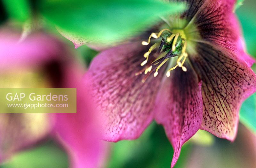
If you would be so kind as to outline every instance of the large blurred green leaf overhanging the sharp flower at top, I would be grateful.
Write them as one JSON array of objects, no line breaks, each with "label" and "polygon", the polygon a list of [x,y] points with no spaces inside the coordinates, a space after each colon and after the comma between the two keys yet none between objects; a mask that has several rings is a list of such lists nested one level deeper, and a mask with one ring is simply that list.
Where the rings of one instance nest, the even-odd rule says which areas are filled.
[{"label": "large blurred green leaf overhanging the sharp flower at top", "polygon": [[110,43],[149,29],[160,17],[184,10],[185,4],[161,0],[47,0],[39,8],[48,21],[72,36]]}]

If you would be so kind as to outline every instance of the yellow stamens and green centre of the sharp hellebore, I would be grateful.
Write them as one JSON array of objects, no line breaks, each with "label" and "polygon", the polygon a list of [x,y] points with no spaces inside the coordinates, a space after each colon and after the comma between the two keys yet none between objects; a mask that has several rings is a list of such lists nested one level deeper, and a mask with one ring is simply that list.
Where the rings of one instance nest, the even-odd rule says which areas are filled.
[{"label": "yellow stamens and green centre of the sharp hellebore", "polygon": [[[148,38],[148,42],[143,41],[142,45],[148,45],[152,37],[155,39],[162,38],[161,42],[153,44],[149,48],[148,52],[144,54],[146,60],[140,65],[145,67],[135,75],[139,75],[144,71],[147,75],[142,79],[142,82],[145,82],[153,71],[155,71],[154,77],[156,77],[161,66],[163,66],[172,57],[178,57],[176,65],[167,70],[166,76],[169,77],[170,71],[177,67],[180,67],[184,72],[186,72],[187,68],[184,66],[184,63],[188,57],[188,53],[186,51],[187,40],[184,31],[182,29],[172,29],[171,31],[165,28],[159,33],[152,33]],[[150,55],[150,53],[156,49],[156,53]]]}]

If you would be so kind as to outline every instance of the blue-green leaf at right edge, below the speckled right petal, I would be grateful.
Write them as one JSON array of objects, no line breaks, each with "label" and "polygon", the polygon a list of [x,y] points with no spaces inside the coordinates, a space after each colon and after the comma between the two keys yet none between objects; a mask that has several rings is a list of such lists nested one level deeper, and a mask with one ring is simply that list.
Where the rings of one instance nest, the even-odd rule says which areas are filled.
[{"label": "blue-green leaf at right edge, below the speckled right petal", "polygon": [[256,133],[256,93],[243,103],[240,110],[240,122]]}]

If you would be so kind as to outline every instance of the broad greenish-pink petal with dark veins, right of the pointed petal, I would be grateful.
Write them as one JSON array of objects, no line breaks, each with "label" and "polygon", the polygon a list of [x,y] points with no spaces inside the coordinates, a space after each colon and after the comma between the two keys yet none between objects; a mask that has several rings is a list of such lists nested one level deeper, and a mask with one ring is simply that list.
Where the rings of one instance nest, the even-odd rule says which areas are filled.
[{"label": "broad greenish-pink petal with dark veins, right of the pointed petal", "polygon": [[256,90],[256,76],[234,53],[199,43],[190,60],[202,80],[204,116],[201,129],[233,141],[241,103]]}]

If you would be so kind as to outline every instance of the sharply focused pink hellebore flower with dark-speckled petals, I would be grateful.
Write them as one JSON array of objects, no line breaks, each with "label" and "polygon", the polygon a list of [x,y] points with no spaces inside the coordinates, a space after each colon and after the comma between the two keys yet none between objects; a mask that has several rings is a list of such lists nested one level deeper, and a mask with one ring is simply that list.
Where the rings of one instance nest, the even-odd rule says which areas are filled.
[{"label": "sharply focused pink hellebore flower with dark-speckled petals", "polygon": [[175,151],[171,167],[198,129],[234,141],[240,105],[256,90],[253,60],[232,12],[236,0],[186,2],[187,11],[164,18],[148,39],[140,36],[142,43],[101,52],[84,78],[93,80],[108,118],[103,139],[138,138],[156,119]]}]

